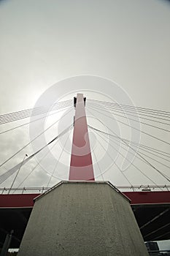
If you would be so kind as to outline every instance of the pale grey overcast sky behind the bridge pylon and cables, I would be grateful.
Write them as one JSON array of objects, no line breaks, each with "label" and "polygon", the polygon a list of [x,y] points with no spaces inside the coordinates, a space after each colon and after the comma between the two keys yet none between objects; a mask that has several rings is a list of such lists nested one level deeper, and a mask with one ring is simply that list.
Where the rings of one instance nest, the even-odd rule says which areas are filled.
[{"label": "pale grey overcast sky behind the bridge pylon and cables", "polygon": [[[131,97],[134,105],[169,111],[169,25],[170,4],[163,0],[0,1],[0,113],[34,108],[37,99],[50,86],[79,75],[113,80]],[[80,85],[80,92],[86,89],[83,86]],[[74,84],[69,83],[68,91],[72,91],[72,94],[64,99],[74,96]],[[107,86],[106,94],[109,94]],[[90,93],[87,91],[85,96],[90,97]],[[98,97],[97,93],[93,94],[94,97]],[[90,116],[88,110],[87,114]],[[90,123],[97,125],[91,119],[89,117]],[[18,124],[23,124],[23,121],[1,125],[0,128],[4,131]],[[147,132],[152,130],[147,129]],[[152,134],[166,141],[170,138],[167,132],[153,131]],[[0,136],[1,162],[30,140],[28,127]],[[50,136],[54,137],[52,133]],[[93,136],[90,137],[93,140]],[[170,152],[168,145],[153,140],[150,142],[148,138],[142,138],[142,142]],[[18,154],[1,167],[0,174],[17,165],[24,154],[31,152],[31,147],[28,147]],[[69,163],[66,156],[65,161]],[[31,160],[30,165],[27,164],[20,171],[25,176],[35,164],[36,161]],[[142,163],[138,162],[138,166],[146,168],[158,184],[168,184]],[[168,175],[167,168],[162,170]],[[127,173],[132,184],[149,183],[132,167]],[[2,186],[10,186],[13,178]],[[116,167],[115,173],[112,167],[104,173],[103,178],[113,184],[128,185]],[[15,187],[22,180],[23,176],[18,176]],[[37,167],[24,185],[45,186],[48,180],[47,173]],[[53,178],[51,185],[58,181]]]}]

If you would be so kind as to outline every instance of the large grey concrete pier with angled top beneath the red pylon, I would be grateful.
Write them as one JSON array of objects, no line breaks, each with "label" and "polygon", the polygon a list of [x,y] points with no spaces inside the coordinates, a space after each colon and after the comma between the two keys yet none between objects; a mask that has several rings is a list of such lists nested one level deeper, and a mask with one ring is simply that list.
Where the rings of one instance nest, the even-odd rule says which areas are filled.
[{"label": "large grey concrete pier with angled top beneath the red pylon", "polygon": [[145,256],[130,203],[106,182],[67,182],[36,199],[18,256]]}]

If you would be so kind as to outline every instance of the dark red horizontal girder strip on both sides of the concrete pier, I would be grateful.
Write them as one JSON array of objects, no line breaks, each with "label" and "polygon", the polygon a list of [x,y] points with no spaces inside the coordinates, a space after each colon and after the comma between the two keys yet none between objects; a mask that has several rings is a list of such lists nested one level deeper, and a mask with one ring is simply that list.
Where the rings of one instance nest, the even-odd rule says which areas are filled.
[{"label": "dark red horizontal girder strip on both sides of the concrete pier", "polygon": [[[123,192],[134,204],[170,203],[170,191],[161,192]],[[0,208],[33,207],[34,198],[39,194],[0,195]]]}]

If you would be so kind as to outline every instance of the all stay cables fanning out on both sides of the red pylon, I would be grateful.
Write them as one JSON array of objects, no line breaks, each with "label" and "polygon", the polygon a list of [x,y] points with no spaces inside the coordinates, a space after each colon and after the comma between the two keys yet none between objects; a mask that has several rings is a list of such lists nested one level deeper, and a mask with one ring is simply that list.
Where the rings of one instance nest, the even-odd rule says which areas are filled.
[{"label": "all stay cables fanning out on both sides of the red pylon", "polygon": [[[67,113],[64,113],[63,116],[61,117],[63,118],[64,116],[68,115],[73,109],[73,106],[71,108],[71,105],[72,105],[72,99],[57,103],[53,105],[53,108],[51,109],[51,112],[48,113],[48,116],[55,115],[60,111],[63,111],[69,108],[69,111],[67,111]],[[131,129],[141,132],[142,135],[146,136],[150,140],[155,140],[155,141],[158,141],[158,143],[163,143],[163,145],[166,145],[166,147],[170,146],[170,143],[168,140],[164,140],[163,138],[160,138],[157,135],[154,135],[154,133],[148,132],[145,129],[140,130],[138,127],[135,127],[125,122],[128,116],[128,120],[133,121],[133,124],[135,124],[135,122],[139,122],[140,124],[142,124],[142,127],[144,128],[154,129],[154,130],[158,130],[159,132],[169,133],[170,132],[170,128],[169,128],[170,112],[168,111],[155,110],[152,108],[139,108],[131,105],[118,105],[117,103],[104,102],[96,99],[87,99],[86,111],[87,113],[90,114],[90,116],[93,116],[98,121],[101,121],[100,118],[98,118],[98,116],[103,116],[104,118],[112,118],[115,121],[117,121],[117,124],[123,125],[123,127],[130,127]],[[30,116],[37,116],[37,118],[35,118],[32,121],[32,122],[36,122],[42,118],[46,118],[46,113],[47,113],[47,108],[43,106],[39,108],[34,108],[34,109],[27,109],[27,110],[21,110],[18,112],[7,113],[0,116],[0,124],[5,125],[7,123],[12,123],[14,121],[22,121],[24,118],[29,118]],[[25,150],[25,148],[28,145],[30,145],[34,140],[39,138],[42,134],[47,132],[48,129],[50,129],[55,124],[57,124],[58,121],[61,120],[61,118],[56,120],[53,124],[51,124],[50,127],[47,127],[45,131],[37,135],[35,138],[33,138],[33,140],[31,140],[25,146],[20,148],[20,150],[12,154],[12,156],[8,157],[4,162],[0,164],[0,167],[5,165],[7,162],[11,161],[21,151]],[[14,129],[18,129],[19,127],[24,127],[30,123],[31,123],[30,121],[27,121],[26,123],[18,124],[18,126],[12,127],[10,129],[5,129],[0,132],[0,135],[10,132]],[[25,165],[26,162],[32,159],[36,154],[39,154],[40,151],[43,151],[44,148],[49,146],[47,152],[44,154],[40,162],[36,163],[36,165],[32,167],[28,173],[26,173],[26,176],[23,177],[23,180],[18,185],[18,188],[19,188],[26,181],[26,179],[28,179],[31,176],[31,174],[34,173],[34,170],[36,170],[36,168],[40,165],[42,160],[45,159],[45,157],[47,157],[50,151],[56,146],[56,144],[58,143],[58,138],[61,138],[63,135],[66,135],[66,133],[69,132],[69,135],[65,140],[65,143],[63,143],[63,148],[61,149],[58,159],[56,160],[55,166],[53,167],[53,171],[50,175],[50,178],[47,181],[47,187],[48,187],[50,185],[51,179],[54,176],[55,170],[57,170],[58,162],[61,159],[66,143],[69,140],[70,133],[72,132],[72,127],[73,126],[71,124],[66,129],[63,129],[63,132],[61,132],[53,140],[50,140],[50,142],[47,143],[45,146],[43,146],[42,148],[39,148],[39,150],[36,151],[34,154],[31,154],[30,157],[23,159],[23,161],[20,162],[18,165],[15,165],[15,167],[12,167],[11,169],[2,173],[0,175],[0,184],[6,181],[7,178],[9,178],[10,176],[15,174],[15,178],[11,185],[11,189],[12,189],[15,183],[15,180],[18,176],[20,167]],[[167,169],[169,170],[169,162],[170,162],[169,152],[161,148],[149,146],[146,143],[137,143],[136,141],[128,140],[128,138],[123,138],[122,136],[117,135],[117,132],[115,132],[113,128],[111,129],[111,127],[107,126],[107,124],[105,124],[105,127],[107,128],[107,132],[104,132],[103,130],[98,129],[98,127],[96,127],[95,124],[93,123],[91,125],[90,124],[88,125],[88,128],[90,129],[90,131],[92,131],[98,138],[98,145],[103,151],[106,151],[106,149],[104,148],[104,143],[108,142],[107,138],[109,136],[109,144],[113,148],[113,150],[117,151],[116,146],[120,146],[120,148],[122,149],[122,151],[117,151],[117,154],[119,154],[121,157],[125,158],[125,154],[127,150],[130,148],[131,151],[129,151],[129,154],[131,155],[135,154],[136,159],[138,159],[139,162],[142,162],[144,165],[147,165],[147,167],[150,167],[152,170],[158,173],[158,175],[161,176],[161,178],[163,178],[165,181],[170,181],[169,175],[167,174],[165,169],[163,169],[163,168],[166,168],[166,170]],[[131,178],[128,177],[127,173],[121,170],[120,165],[118,165],[115,159],[113,159],[112,154],[108,151],[106,151],[106,153],[109,159],[117,167],[117,170],[128,182],[128,184],[133,186]],[[93,159],[96,159],[96,164],[98,166],[100,176],[104,181],[104,173],[102,172],[102,168],[98,163],[98,156],[96,155],[96,151],[92,152],[92,156],[93,156]],[[127,159],[127,161],[129,160]],[[140,173],[140,175],[144,176],[144,178],[146,178],[148,182],[151,182],[151,184],[154,184],[155,187],[158,187],[158,189],[162,189],[155,181],[155,178],[151,177],[149,172],[146,172],[145,170],[143,170],[141,165],[137,165],[136,162],[131,162],[131,161],[129,161],[129,164],[131,164],[131,166],[134,167],[134,169],[136,169],[137,172]]]}]

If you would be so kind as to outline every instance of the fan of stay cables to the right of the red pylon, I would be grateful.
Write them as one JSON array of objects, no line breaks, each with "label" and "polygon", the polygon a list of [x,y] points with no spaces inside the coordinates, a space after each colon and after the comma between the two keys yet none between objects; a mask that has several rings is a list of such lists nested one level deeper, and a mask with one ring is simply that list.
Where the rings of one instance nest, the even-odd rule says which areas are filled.
[{"label": "fan of stay cables to the right of the red pylon", "polygon": [[[124,118],[126,118],[126,121],[127,119],[130,119],[133,121],[133,124],[135,122],[139,122],[145,127],[158,129],[161,132],[170,132],[169,129],[163,127],[167,127],[170,125],[170,112],[168,111],[154,110],[151,108],[139,108],[131,105],[118,105],[117,103],[104,102],[96,99],[87,99],[86,109],[90,116],[93,116],[94,118],[96,118],[96,116],[111,118],[115,120],[117,124],[121,124],[124,127],[129,127],[132,130],[135,129],[138,132],[141,132],[143,135],[147,135],[147,138],[151,138],[152,140],[158,140],[159,143],[163,143],[166,146],[170,145],[169,141],[158,138],[158,136],[153,135],[153,133],[151,134],[150,132],[146,132],[144,129],[140,130],[137,127],[133,127],[128,122],[122,120]],[[119,118],[117,118],[117,116],[119,116]],[[131,118],[131,116],[133,116],[133,118]],[[96,119],[98,119],[98,121],[102,121],[100,118]],[[141,119],[147,121],[141,121]],[[161,125],[161,127],[159,125]],[[117,148],[115,146],[120,146],[122,150],[117,151],[117,153],[125,159],[125,154],[130,148],[131,151],[129,151],[129,154],[136,154],[136,159],[139,159],[140,162],[143,162],[145,165],[148,165],[150,168],[152,168],[152,170],[155,170],[155,172],[157,172],[162,178],[164,178],[164,180],[170,181],[170,177],[166,173],[167,171],[165,172],[164,170],[162,170],[163,167],[166,167],[166,170],[169,170],[170,168],[169,152],[147,146],[144,143],[136,143],[135,141],[128,140],[127,138],[122,138],[122,136],[118,136],[113,129],[110,129],[110,127],[108,127],[106,123],[104,123],[104,127],[107,128],[107,132],[98,129],[98,127],[95,126],[88,125],[88,127],[91,131],[94,132],[97,137],[100,138],[100,140],[98,140],[98,144],[101,149],[103,148],[103,150],[106,151],[106,149],[102,145],[104,142],[109,143],[109,145],[115,151],[117,151]],[[107,140],[108,136],[109,142]],[[122,151],[124,153],[122,153]],[[120,173],[124,176],[125,180],[128,181],[128,184],[132,186],[131,181],[128,179],[128,175],[125,175],[125,172],[120,169],[120,166],[117,165],[117,162],[115,162],[115,159],[113,159],[112,155],[110,155],[107,151],[106,153],[109,158],[112,159],[112,162],[114,162]],[[126,159],[126,161],[129,162],[128,158]],[[148,181],[151,181],[152,184],[155,184],[155,187],[161,189],[161,187],[158,186],[158,184],[154,181],[154,178],[150,177],[150,173],[146,173],[144,170],[142,170],[140,166],[137,166],[134,162],[129,163],[137,171],[139,171],[139,173],[146,177]],[[160,165],[161,168],[158,167],[157,164]]]}]

